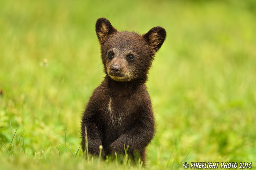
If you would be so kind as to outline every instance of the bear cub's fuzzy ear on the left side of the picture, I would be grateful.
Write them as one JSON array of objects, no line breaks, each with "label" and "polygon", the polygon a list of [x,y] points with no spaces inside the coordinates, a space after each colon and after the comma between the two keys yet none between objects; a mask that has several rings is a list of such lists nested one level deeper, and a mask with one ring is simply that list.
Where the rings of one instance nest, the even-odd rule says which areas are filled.
[{"label": "bear cub's fuzzy ear on the left side of the picture", "polygon": [[109,36],[115,32],[117,32],[117,29],[111,25],[108,19],[99,18],[96,21],[96,33],[101,46],[106,42]]}]

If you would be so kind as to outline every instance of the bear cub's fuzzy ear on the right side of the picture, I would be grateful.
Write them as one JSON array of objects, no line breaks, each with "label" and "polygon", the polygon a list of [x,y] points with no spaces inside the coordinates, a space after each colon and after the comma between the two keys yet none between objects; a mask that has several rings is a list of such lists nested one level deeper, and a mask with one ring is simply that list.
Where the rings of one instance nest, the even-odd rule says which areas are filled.
[{"label": "bear cub's fuzzy ear on the right side of the picture", "polygon": [[154,27],[143,34],[142,37],[146,39],[153,52],[157,52],[165,41],[166,31],[162,27]]}]

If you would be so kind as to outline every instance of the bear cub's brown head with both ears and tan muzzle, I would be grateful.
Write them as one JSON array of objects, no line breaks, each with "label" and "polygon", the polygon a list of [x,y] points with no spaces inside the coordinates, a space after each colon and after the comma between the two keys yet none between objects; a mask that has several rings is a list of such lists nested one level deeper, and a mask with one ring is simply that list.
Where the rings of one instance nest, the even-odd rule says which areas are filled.
[{"label": "bear cub's brown head with both ears and tan muzzle", "polygon": [[154,55],[166,37],[162,27],[154,27],[142,36],[119,32],[106,18],[97,20],[96,33],[105,74],[118,82],[146,81]]}]

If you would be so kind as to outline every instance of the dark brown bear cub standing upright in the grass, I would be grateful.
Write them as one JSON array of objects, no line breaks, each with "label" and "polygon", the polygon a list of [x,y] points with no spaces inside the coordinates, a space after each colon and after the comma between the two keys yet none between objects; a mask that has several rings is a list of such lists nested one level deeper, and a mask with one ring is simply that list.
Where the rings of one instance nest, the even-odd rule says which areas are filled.
[{"label": "dark brown bear cub standing upright in the grass", "polygon": [[145,162],[145,148],[154,137],[155,123],[145,82],[155,53],[165,41],[166,31],[154,27],[140,36],[117,31],[109,20],[99,18],[96,33],[101,45],[105,78],[91,95],[84,111],[81,146],[85,148],[87,128],[89,153],[102,158],[124,153]]}]

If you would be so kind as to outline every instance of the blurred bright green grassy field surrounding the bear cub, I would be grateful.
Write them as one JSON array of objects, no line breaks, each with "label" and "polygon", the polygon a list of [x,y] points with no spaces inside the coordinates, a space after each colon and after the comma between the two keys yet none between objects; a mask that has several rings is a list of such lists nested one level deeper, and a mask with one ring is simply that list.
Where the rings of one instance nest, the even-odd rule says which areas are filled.
[{"label": "blurred bright green grassy field surrounding the bear cub", "polygon": [[157,122],[147,168],[256,167],[254,0],[0,0],[0,16],[0,169],[141,168],[79,149],[84,106],[104,76],[99,17],[167,31],[147,82]]}]

